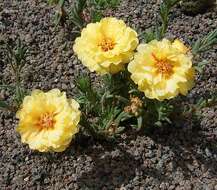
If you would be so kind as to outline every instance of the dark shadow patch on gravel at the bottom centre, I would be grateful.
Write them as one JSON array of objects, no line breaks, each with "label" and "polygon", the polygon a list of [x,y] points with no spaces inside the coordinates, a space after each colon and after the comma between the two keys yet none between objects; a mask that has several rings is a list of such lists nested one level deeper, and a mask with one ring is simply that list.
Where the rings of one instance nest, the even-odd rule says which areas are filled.
[{"label": "dark shadow patch on gravel at the bottom centre", "polygon": [[134,178],[141,172],[145,176],[158,178],[158,180],[169,180],[161,176],[157,169],[144,168],[142,160],[136,160],[121,146],[116,146],[114,149],[106,148],[106,153],[101,151],[92,157],[94,167],[78,179],[81,189],[120,188],[123,184],[133,182]]}]

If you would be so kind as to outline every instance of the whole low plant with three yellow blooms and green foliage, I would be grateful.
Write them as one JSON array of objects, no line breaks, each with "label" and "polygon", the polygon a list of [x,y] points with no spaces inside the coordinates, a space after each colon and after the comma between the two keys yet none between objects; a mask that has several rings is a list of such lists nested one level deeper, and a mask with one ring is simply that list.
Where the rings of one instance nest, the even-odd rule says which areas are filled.
[{"label": "whole low plant with three yellow blooms and green foliage", "polygon": [[[103,3],[108,2],[95,1],[99,6],[107,6]],[[196,71],[201,72],[207,64],[200,62],[198,55],[217,44],[217,32],[198,39],[192,48],[178,39],[166,39],[169,13],[178,2],[162,2],[160,21],[154,30],[144,33],[145,43],[141,44],[137,32],[123,20],[107,17],[88,24],[75,40],[73,50],[98,76],[97,80],[88,74],[75,78],[76,100],[58,89],[33,90],[24,97],[20,73],[27,49],[21,41],[15,48],[7,48],[7,60],[16,79],[15,107],[21,141],[40,152],[62,152],[78,134],[115,140],[126,129],[143,132],[173,125],[177,118],[197,119],[202,108],[216,105],[216,92],[196,103],[183,101],[195,85]],[[78,28],[84,26],[78,22],[85,6],[77,4],[72,13]],[[3,101],[0,106],[17,110]]]}]

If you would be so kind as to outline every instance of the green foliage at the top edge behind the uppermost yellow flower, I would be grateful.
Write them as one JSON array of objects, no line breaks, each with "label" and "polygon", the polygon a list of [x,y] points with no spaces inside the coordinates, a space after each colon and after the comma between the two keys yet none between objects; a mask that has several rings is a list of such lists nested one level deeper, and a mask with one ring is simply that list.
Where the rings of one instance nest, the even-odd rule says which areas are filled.
[{"label": "green foliage at the top edge behind the uppermost yellow flower", "polygon": [[[108,8],[116,8],[120,0],[76,0],[72,6],[66,0],[48,0],[49,5],[56,6],[54,24],[73,24],[79,32],[87,23],[97,22],[103,17],[103,11]],[[66,5],[69,9],[66,9]]]}]

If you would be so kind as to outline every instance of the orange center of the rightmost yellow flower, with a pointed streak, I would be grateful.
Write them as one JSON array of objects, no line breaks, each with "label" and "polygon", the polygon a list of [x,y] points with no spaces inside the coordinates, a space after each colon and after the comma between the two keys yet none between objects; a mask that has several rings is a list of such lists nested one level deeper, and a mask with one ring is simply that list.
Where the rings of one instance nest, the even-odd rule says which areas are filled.
[{"label": "orange center of the rightmost yellow flower, with a pointed streak", "polygon": [[155,60],[155,66],[157,73],[161,73],[165,76],[170,76],[173,73],[173,65],[168,59],[158,59],[155,54],[152,53],[152,57]]}]

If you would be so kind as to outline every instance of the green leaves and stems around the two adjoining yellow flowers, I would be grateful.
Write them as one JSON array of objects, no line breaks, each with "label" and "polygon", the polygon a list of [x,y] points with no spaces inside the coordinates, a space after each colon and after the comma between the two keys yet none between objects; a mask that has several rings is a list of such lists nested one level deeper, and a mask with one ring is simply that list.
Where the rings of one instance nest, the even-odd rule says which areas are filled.
[{"label": "green leaves and stems around the two adjoining yellow flowers", "polygon": [[[179,0],[165,0],[160,6],[160,20],[154,28],[143,33],[143,40],[148,43],[153,39],[161,40],[167,32],[169,13]],[[192,46],[192,53],[199,55],[217,44],[216,30],[198,39]],[[202,71],[207,62],[199,62],[195,69]],[[89,76],[76,79],[78,102],[83,117],[81,125],[88,126],[90,134],[97,138],[118,136],[126,124],[136,130],[149,129],[153,126],[172,125],[173,117],[198,115],[201,108],[216,102],[216,94],[208,99],[200,99],[197,103],[177,107],[182,100],[150,100],[140,92],[133,83],[127,70],[118,74],[107,74],[101,77],[101,85],[96,85]],[[174,118],[175,118],[174,117]],[[94,119],[92,119],[94,118]]]}]

